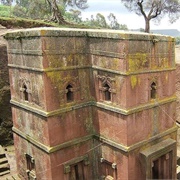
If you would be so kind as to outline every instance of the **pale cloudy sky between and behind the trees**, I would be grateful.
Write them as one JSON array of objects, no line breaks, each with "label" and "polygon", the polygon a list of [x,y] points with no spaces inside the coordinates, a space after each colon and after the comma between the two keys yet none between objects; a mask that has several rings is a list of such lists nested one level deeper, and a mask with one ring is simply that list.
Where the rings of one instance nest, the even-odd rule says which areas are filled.
[{"label": "pale cloudy sky between and behind the trees", "polygon": [[[97,13],[101,13],[104,17],[110,13],[113,13],[119,24],[126,24],[128,29],[139,29],[145,28],[145,22],[143,16],[138,16],[134,12],[130,12],[121,3],[120,0],[88,0],[89,7],[82,10],[82,19],[86,19]],[[163,18],[159,24],[155,24],[153,21],[150,22],[151,29],[178,29],[180,31],[180,19],[175,23],[171,24],[168,18]]]}]

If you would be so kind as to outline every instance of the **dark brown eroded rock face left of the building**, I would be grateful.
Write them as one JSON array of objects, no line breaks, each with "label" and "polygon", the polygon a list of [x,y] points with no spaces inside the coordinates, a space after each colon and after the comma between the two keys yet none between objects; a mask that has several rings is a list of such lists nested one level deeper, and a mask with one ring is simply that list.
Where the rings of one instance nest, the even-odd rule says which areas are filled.
[{"label": "dark brown eroded rock face left of the building", "polygon": [[13,143],[7,48],[0,45],[0,144]]}]

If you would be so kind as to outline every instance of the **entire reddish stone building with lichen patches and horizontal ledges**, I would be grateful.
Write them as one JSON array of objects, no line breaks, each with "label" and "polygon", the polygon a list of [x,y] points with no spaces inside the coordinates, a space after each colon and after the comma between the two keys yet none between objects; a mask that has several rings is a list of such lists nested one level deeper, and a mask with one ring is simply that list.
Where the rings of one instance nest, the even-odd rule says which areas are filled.
[{"label": "entire reddish stone building with lichen patches and horizontal ledges", "polygon": [[40,28],[6,39],[22,179],[176,178],[173,38]]}]

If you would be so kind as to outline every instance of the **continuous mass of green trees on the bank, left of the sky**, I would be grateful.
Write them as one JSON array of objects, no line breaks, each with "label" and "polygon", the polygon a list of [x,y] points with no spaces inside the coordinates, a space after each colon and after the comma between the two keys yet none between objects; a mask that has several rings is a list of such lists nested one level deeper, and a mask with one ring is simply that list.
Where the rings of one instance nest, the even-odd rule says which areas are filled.
[{"label": "continuous mass of green trees on the bank, left of the sky", "polygon": [[[12,9],[15,17],[52,20],[59,24],[83,24],[92,28],[128,30],[126,25],[118,23],[113,13],[108,17],[97,13],[90,19],[83,20],[81,10],[88,7],[87,0],[1,0],[1,4],[6,4],[4,7],[2,5],[2,9],[6,10],[3,16],[6,17],[10,16]],[[2,12],[4,11],[1,11],[1,15]]]}]

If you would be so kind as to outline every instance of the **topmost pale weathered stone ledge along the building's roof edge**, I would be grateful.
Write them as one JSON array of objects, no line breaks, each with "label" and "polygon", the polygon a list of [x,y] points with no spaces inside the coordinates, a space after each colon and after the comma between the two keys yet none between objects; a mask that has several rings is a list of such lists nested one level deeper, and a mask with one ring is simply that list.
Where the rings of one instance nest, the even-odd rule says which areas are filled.
[{"label": "topmost pale weathered stone ledge along the building's roof edge", "polygon": [[[7,33],[5,39],[21,39],[31,37],[99,37],[99,38],[110,38],[110,39],[121,39],[121,40],[142,40],[152,41],[158,39],[158,41],[169,41],[169,37],[160,34],[150,34],[143,32],[133,31],[122,31],[122,30],[98,30],[98,29],[76,29],[76,28],[52,28],[52,27],[41,27],[32,28],[25,30],[15,30]],[[175,38],[171,37],[173,41]]]}]

